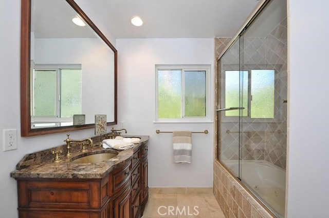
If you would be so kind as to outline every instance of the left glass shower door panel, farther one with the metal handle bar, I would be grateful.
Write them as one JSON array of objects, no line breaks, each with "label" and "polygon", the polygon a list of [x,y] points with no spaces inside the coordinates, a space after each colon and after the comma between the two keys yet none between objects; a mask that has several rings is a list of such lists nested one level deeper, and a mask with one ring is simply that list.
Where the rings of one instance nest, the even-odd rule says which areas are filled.
[{"label": "left glass shower door panel, farther one with the metal handle bar", "polygon": [[[218,62],[218,133],[217,158],[230,169],[235,176],[240,174],[240,146],[242,114],[247,111],[243,100],[247,84],[245,72],[239,70],[240,41],[232,44]],[[242,83],[240,82],[242,81]]]}]

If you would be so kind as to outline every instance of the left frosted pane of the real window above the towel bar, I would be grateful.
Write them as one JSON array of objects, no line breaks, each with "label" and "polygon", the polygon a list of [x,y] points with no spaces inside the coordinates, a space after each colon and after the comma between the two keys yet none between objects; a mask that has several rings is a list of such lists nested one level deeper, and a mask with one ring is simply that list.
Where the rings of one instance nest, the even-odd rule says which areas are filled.
[{"label": "left frosted pane of the real window above the towel bar", "polygon": [[158,70],[158,118],[181,117],[181,70]]}]

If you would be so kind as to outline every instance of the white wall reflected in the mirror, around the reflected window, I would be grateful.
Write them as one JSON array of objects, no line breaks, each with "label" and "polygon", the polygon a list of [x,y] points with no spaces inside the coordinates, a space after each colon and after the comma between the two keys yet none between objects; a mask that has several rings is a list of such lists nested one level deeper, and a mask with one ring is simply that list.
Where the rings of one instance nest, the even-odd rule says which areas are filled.
[{"label": "white wall reflected in the mirror, around the reflected window", "polygon": [[114,121],[114,53],[103,41],[35,38],[33,50],[34,64],[81,64],[82,114],[86,115],[86,124],[95,122],[95,114],[107,114],[107,122]]}]

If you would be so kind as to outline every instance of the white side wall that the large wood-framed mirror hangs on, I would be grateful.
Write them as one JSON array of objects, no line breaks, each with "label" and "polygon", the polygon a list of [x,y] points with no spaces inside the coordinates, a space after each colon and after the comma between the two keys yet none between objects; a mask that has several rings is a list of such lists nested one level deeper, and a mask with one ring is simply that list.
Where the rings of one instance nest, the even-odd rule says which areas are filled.
[{"label": "white side wall that the large wood-framed mirror hangs on", "polygon": [[[83,1],[79,1],[83,2]],[[0,7],[0,143],[3,141],[3,129],[17,129],[17,150],[3,152],[0,149],[0,217],[17,217],[17,185],[10,178],[10,172],[21,158],[30,152],[64,144],[66,133],[46,136],[20,137],[20,31],[21,31],[21,1],[1,1]],[[82,9],[85,9],[82,7]],[[93,11],[96,8],[88,8]],[[90,16],[96,25],[97,16]],[[101,18],[98,16],[98,18]],[[104,29],[101,29],[104,31]],[[104,31],[105,32],[105,31]],[[107,33],[110,31],[107,30]],[[109,37],[110,38],[110,37]],[[113,42],[113,41],[112,41]],[[115,42],[113,43],[115,44]],[[72,138],[83,138],[94,135],[93,129],[71,132]],[[2,146],[1,146],[2,147]]]}]

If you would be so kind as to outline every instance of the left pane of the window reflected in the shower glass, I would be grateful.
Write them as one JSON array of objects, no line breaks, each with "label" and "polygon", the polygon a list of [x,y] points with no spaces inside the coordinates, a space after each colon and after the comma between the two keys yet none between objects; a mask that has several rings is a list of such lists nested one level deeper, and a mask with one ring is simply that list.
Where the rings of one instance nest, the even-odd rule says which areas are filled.
[{"label": "left pane of the window reflected in the shower glass", "polygon": [[[240,72],[242,84],[243,104],[239,105]],[[243,116],[248,115],[248,71],[225,71],[225,107],[244,107]],[[225,111],[226,116],[239,116],[239,110]]]}]

